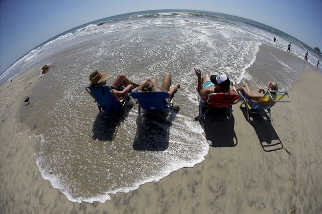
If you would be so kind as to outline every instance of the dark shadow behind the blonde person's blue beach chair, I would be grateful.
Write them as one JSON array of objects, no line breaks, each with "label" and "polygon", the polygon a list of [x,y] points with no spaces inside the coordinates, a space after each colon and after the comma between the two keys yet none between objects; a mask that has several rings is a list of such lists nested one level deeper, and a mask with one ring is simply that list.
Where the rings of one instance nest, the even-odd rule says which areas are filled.
[{"label": "dark shadow behind the blonde person's blue beach chair", "polygon": [[170,126],[180,108],[175,107],[174,116],[169,111],[143,111],[136,118],[136,134],[133,149],[138,151],[165,151],[169,147]]}]

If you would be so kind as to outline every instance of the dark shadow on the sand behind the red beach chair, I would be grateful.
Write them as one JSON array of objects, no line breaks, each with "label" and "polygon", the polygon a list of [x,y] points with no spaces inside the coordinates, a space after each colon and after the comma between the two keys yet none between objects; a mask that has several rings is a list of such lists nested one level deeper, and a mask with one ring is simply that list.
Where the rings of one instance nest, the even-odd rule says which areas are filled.
[{"label": "dark shadow on the sand behind the red beach chair", "polygon": [[238,143],[234,131],[235,120],[232,114],[228,120],[228,110],[228,108],[213,108],[208,111],[205,119],[199,119],[211,147],[235,147]]}]

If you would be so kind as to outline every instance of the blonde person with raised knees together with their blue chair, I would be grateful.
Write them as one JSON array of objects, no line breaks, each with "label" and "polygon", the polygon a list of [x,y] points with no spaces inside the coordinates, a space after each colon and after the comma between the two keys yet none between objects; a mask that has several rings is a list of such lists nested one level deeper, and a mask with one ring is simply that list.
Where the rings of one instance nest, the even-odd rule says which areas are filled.
[{"label": "blonde person with raised knees together with their blue chair", "polygon": [[[157,87],[156,78],[145,79],[138,87],[138,90],[131,93],[132,98],[136,99],[139,104],[139,112],[141,108],[144,110],[164,110],[170,107],[173,115],[173,98],[180,84],[176,83],[170,88],[172,83],[171,75],[167,72],[163,78],[160,88]],[[168,99],[168,101],[166,101]]]}]

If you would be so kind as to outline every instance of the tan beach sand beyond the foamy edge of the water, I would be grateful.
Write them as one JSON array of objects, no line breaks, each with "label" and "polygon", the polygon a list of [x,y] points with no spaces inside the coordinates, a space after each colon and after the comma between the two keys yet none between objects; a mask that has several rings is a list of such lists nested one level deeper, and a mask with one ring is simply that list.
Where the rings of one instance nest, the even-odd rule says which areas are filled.
[{"label": "tan beach sand beyond the foamy edge of the water", "polygon": [[19,117],[32,108],[23,100],[41,81],[35,72],[40,66],[0,87],[0,213],[322,213],[322,75],[315,71],[292,84],[292,101],[274,106],[272,123],[248,123],[239,104],[230,121],[210,116],[212,146],[201,164],[111,194],[105,204],[70,202],[41,177],[39,142]]}]

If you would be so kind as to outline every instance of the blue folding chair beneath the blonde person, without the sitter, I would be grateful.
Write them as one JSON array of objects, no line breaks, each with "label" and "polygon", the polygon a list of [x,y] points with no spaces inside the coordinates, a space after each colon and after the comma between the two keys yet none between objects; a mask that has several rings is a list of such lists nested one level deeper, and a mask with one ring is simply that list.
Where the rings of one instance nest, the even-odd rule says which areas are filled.
[{"label": "blue folding chair beneath the blonde person, without the sitter", "polygon": [[131,97],[136,99],[139,105],[138,115],[141,115],[143,110],[164,110],[170,108],[173,116],[173,98],[170,100],[170,94],[166,91],[135,91],[132,92]]}]

